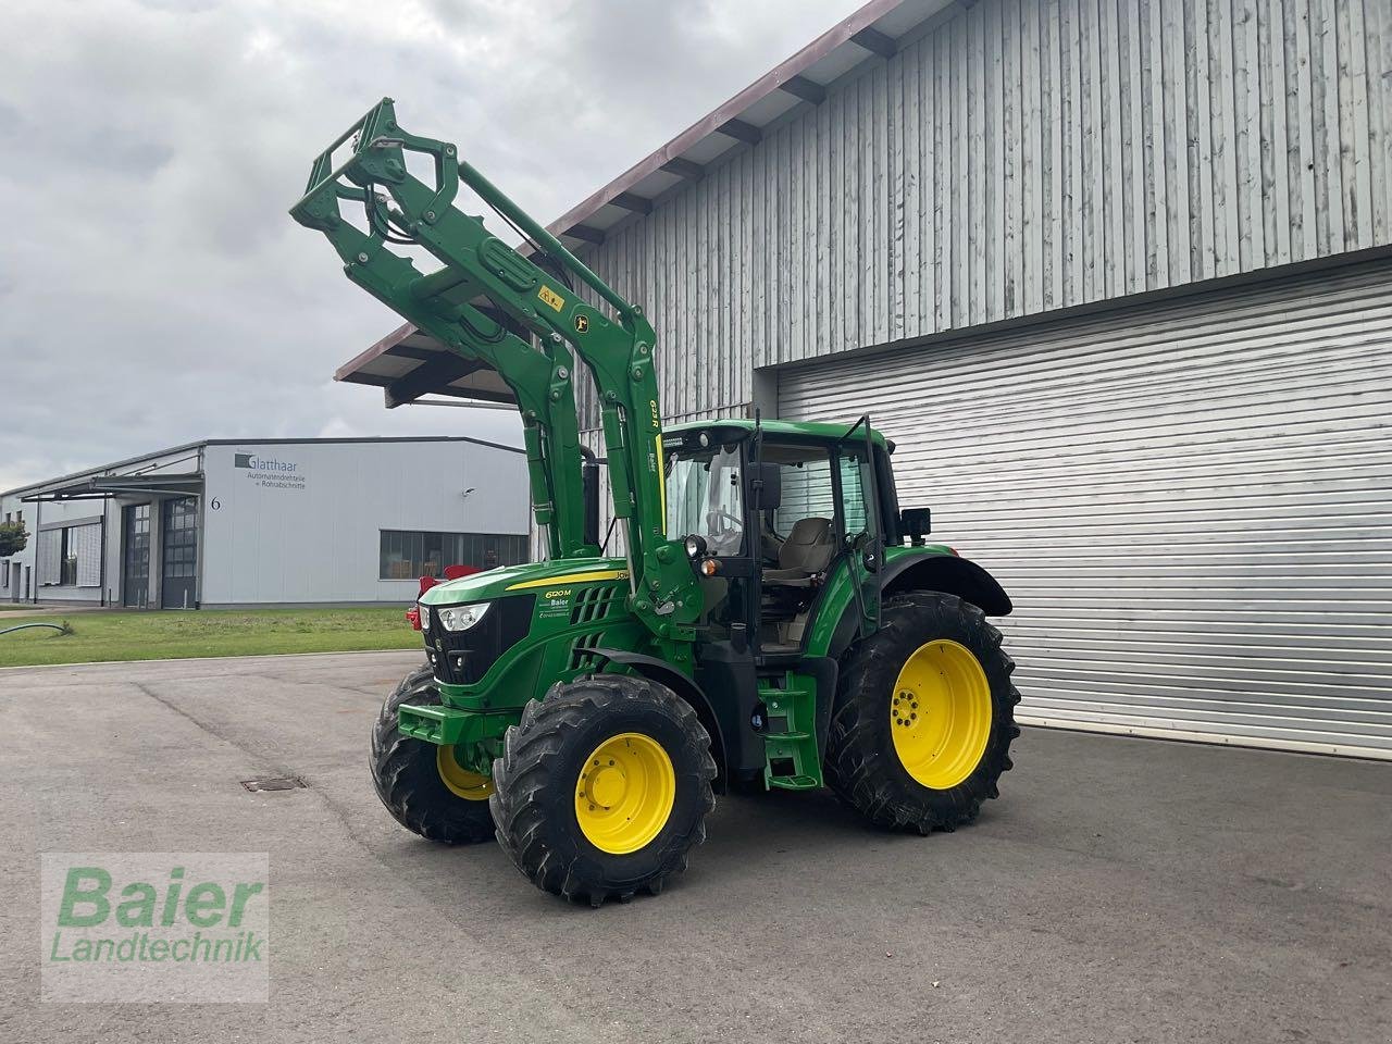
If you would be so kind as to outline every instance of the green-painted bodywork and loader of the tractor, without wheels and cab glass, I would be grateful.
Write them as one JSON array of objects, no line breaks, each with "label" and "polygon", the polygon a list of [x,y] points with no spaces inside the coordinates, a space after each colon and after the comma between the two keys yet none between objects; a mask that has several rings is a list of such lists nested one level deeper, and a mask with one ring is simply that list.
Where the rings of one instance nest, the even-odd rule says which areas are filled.
[{"label": "green-painted bodywork and loader of the tractor, without wheels and cab glass", "polygon": [[[341,153],[345,159],[334,166]],[[408,156],[426,159],[433,177],[423,181],[412,174]],[[535,253],[514,251],[484,228],[482,217],[461,210],[461,188],[503,216],[530,241]],[[349,220],[345,207],[361,209],[361,221]],[[404,131],[390,99],[319,156],[291,214],[329,238],[349,280],[468,363],[497,370],[522,415],[532,512],[546,533],[550,561],[440,583],[420,596],[420,604],[427,617],[440,607],[473,603],[490,603],[489,612],[501,612],[507,600],[529,597],[530,621],[475,683],[441,681],[438,706],[402,706],[401,732],[454,746],[464,767],[489,775],[507,729],[519,721],[529,700],[587,672],[631,670],[596,649],[651,657],[674,672],[668,681],[692,679],[704,594],[682,544],[667,532],[656,337],[642,309],[461,161],[455,145]],[[412,255],[393,249],[398,244],[423,248],[443,267],[422,271]],[[576,361],[589,370],[597,391],[624,557],[601,557],[585,529]],[[697,427],[736,429],[742,436],[759,430],[764,438],[796,437],[828,447],[853,438],[885,454],[892,451],[892,444],[867,425],[756,425],[736,418],[668,432]],[[863,452],[864,459],[873,455],[869,448]],[[906,555],[952,554],[945,547],[881,550],[887,567]],[[842,554],[831,565],[807,622],[802,670],[792,665],[759,677],[759,697],[770,718],[782,725],[766,736],[766,785],[821,785],[820,697],[806,661],[841,651],[837,643],[845,635],[848,614],[855,633],[877,625],[878,585],[863,546]],[[512,604],[514,617],[519,615],[523,607]],[[438,626],[427,628],[425,636],[427,647],[444,654]],[[722,697],[728,695],[711,695]]]}]

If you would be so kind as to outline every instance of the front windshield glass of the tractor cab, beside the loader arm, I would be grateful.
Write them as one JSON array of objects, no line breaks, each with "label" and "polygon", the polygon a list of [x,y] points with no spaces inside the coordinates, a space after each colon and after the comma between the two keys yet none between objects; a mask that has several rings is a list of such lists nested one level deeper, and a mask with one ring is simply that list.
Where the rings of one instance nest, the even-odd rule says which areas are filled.
[{"label": "front windshield glass of the tractor cab, beside the loader arm", "polygon": [[704,537],[711,554],[739,554],[745,504],[739,444],[713,445],[667,457],[667,536]]}]

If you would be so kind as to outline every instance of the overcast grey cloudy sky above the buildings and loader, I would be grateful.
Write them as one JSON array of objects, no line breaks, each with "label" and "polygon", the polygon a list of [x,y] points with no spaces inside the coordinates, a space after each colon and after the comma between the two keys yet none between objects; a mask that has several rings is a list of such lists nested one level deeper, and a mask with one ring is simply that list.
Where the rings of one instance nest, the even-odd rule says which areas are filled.
[{"label": "overcast grey cloudy sky above the buildings and loader", "polygon": [[285,214],[313,156],[390,95],[550,221],[856,7],[7,0],[0,490],[202,437],[518,441],[331,381],[397,319]]}]

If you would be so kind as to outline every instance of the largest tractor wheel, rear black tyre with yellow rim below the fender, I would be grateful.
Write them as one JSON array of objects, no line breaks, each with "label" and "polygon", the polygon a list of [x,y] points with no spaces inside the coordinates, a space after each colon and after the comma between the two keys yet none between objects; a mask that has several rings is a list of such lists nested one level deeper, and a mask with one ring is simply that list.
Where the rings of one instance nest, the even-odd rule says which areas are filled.
[{"label": "largest tractor wheel, rear black tyre with yellow rim below the fender", "polygon": [[883,626],[842,663],[827,782],[883,827],[970,823],[1011,768],[1013,670],[976,606],[935,592],[887,599]]}]

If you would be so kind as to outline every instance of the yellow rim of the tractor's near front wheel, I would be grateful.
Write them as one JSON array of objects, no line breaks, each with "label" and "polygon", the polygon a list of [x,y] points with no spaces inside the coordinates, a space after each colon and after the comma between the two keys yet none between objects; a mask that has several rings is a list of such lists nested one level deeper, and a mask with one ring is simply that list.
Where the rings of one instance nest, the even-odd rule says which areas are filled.
[{"label": "yellow rim of the tractor's near front wheel", "polygon": [[575,818],[600,852],[638,852],[677,803],[677,770],[663,745],[640,732],[606,739],[586,759],[575,788]]}]

